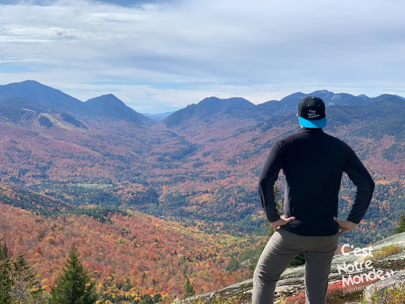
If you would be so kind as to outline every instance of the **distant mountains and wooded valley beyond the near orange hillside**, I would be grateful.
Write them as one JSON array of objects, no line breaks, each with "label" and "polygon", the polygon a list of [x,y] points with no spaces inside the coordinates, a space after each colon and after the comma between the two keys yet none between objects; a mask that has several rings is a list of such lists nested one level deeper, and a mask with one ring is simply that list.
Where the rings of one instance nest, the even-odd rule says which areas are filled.
[{"label": "distant mountains and wooded valley beyond the near orange hillside", "polygon": [[[45,193],[63,185],[126,181],[156,193],[153,203],[134,203],[136,210],[257,232],[263,221],[258,175],[275,139],[298,130],[296,105],[306,95],[325,101],[324,130],[349,143],[376,181],[375,205],[363,225],[379,232],[357,235],[357,241],[388,235],[405,208],[405,100],[390,94],[369,98],[319,90],[259,105],[209,97],[167,113],[159,123],[113,94],[82,102],[36,81],[10,83],[0,86],[2,182]],[[278,184],[282,189],[282,176]],[[342,215],[353,191],[344,178]],[[125,198],[120,195],[118,200]],[[373,220],[373,212],[386,221]]]}]

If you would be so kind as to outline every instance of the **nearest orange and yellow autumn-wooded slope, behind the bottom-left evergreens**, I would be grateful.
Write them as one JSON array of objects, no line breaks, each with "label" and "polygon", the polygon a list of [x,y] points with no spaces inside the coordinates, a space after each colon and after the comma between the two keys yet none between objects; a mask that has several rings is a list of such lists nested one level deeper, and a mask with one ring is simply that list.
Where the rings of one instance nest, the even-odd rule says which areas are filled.
[{"label": "nearest orange and yellow autumn-wooded slope, behind the bottom-left evergreens", "polygon": [[0,227],[9,224],[7,236],[16,238],[12,253],[24,253],[34,265],[46,290],[44,300],[73,246],[79,248],[102,303],[147,296],[159,302],[162,295],[181,298],[185,277],[192,278],[196,290],[218,289],[213,277],[227,270],[241,272],[238,259],[244,259],[245,251],[257,248],[263,238],[209,234],[200,223],[185,228],[139,212],[103,216],[100,210],[91,210],[41,216],[0,203]]}]

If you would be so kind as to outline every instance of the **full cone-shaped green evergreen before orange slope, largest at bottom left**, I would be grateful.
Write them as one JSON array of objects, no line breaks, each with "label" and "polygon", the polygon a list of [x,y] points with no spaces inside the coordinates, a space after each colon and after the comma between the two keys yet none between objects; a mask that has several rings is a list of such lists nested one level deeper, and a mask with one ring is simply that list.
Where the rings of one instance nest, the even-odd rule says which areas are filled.
[{"label": "full cone-shaped green evergreen before orange slope, largest at bottom left", "polygon": [[94,304],[97,299],[95,283],[90,282],[87,269],[79,260],[77,248],[69,251],[62,274],[51,287],[51,304]]}]

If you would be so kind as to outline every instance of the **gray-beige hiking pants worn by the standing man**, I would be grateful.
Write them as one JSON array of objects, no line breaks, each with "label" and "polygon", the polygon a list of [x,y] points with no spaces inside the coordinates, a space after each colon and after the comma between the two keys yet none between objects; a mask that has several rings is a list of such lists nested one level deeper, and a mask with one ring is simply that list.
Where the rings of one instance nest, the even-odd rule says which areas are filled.
[{"label": "gray-beige hiking pants worn by the standing man", "polygon": [[301,236],[278,229],[270,238],[253,276],[252,304],[273,304],[280,275],[304,252],[306,304],[326,304],[328,275],[339,233],[332,236]]}]

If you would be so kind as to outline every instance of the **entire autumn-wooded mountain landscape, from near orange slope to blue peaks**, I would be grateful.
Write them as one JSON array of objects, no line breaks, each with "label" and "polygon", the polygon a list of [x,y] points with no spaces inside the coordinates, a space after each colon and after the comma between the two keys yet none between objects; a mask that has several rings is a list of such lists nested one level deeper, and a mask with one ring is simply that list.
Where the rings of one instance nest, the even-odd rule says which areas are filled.
[{"label": "entire autumn-wooded mountain landscape, from near orange slope to blue peaks", "polygon": [[[363,221],[339,242],[387,237],[405,209],[405,98],[327,90],[259,105],[208,97],[151,115],[113,94],[82,102],[32,80],[0,86],[0,220],[16,227],[15,251],[48,292],[72,246],[103,303],[167,303],[186,277],[204,292],[217,278],[247,278],[267,233],[258,176],[275,140],[299,129],[306,95],[325,101],[324,131],[376,184]],[[355,191],[343,176],[339,218]]]}]

